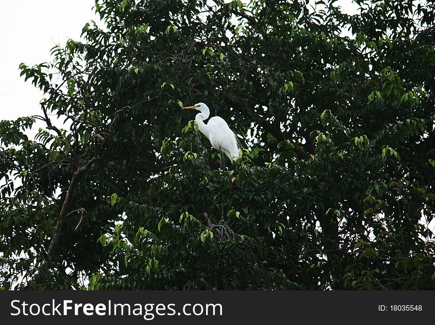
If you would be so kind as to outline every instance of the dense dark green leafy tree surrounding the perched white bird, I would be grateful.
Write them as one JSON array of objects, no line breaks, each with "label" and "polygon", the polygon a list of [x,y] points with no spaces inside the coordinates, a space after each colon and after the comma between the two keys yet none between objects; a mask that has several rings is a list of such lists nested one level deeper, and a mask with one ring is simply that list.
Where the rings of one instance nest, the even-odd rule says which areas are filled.
[{"label": "dense dark green leafy tree surrounding the perched white bird", "polygon": [[2,285],[434,288],[434,1],[334,2],[96,1],[104,29],[21,64],[45,95],[0,123]]}]

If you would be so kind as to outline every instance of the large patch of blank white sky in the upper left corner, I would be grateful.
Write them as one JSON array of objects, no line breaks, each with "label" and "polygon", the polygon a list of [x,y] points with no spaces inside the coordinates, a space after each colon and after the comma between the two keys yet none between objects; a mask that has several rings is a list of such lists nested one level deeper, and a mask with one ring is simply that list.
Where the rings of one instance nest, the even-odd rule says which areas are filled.
[{"label": "large patch of blank white sky in the upper left corner", "polygon": [[31,80],[24,82],[18,65],[50,62],[50,49],[79,40],[89,20],[99,19],[94,0],[1,1],[0,120],[41,113],[43,93]]}]

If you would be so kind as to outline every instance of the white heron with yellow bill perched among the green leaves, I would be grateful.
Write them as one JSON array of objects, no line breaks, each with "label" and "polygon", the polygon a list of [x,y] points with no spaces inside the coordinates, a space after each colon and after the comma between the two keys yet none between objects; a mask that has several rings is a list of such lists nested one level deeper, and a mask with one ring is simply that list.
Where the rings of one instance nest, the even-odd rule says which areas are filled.
[{"label": "white heron with yellow bill perched among the green leaves", "polygon": [[183,109],[196,109],[200,113],[196,114],[195,121],[199,131],[210,140],[213,147],[220,153],[220,170],[225,168],[225,155],[232,161],[239,158],[239,141],[234,132],[231,131],[225,120],[219,116],[213,116],[209,123],[205,124],[210,116],[210,109],[204,103],[193,106],[182,107]]}]

